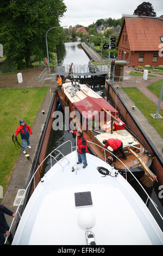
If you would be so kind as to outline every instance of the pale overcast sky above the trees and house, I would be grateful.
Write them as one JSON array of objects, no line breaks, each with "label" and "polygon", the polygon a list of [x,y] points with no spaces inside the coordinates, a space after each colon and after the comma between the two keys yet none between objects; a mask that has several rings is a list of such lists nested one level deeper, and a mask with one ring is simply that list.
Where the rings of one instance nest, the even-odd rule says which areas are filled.
[{"label": "pale overcast sky above the trees and house", "polygon": [[152,3],[156,16],[163,15],[163,0],[64,0],[67,11],[60,25],[89,26],[99,19],[121,19],[122,14],[133,14],[143,2]]}]

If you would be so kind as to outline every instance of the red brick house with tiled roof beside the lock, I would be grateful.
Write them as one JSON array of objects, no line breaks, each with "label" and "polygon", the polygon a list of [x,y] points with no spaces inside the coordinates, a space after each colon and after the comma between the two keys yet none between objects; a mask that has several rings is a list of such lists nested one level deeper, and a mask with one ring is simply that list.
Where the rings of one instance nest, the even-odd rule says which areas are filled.
[{"label": "red brick house with tiled roof beside the lock", "polygon": [[117,46],[118,59],[128,60],[130,66],[163,65],[162,17],[124,16]]}]

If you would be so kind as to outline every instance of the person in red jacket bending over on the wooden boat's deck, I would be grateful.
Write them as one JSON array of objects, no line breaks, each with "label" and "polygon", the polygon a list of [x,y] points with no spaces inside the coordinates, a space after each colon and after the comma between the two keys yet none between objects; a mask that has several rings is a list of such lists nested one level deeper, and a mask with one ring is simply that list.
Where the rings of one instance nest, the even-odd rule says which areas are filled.
[{"label": "person in red jacket bending over on the wooden boat's deck", "polygon": [[[112,154],[115,156],[118,155],[118,152],[120,151],[123,159],[127,159],[124,151],[123,151],[123,143],[120,141],[120,139],[104,139],[103,144],[105,144],[104,148],[108,148],[109,146],[114,150]],[[116,161],[116,157],[113,156],[113,162]]]}]

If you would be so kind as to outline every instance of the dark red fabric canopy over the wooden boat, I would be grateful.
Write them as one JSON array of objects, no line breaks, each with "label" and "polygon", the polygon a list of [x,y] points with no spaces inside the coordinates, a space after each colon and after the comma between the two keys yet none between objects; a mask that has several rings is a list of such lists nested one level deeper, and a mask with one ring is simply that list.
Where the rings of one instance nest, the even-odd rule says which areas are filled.
[{"label": "dark red fabric canopy over the wooden boat", "polygon": [[95,97],[87,96],[84,100],[74,102],[73,108],[74,110],[78,109],[87,119],[95,119],[96,115],[99,115],[99,112],[103,111],[102,108],[105,108],[107,111],[110,111],[112,115],[118,117],[118,111],[103,98],[96,99]]}]

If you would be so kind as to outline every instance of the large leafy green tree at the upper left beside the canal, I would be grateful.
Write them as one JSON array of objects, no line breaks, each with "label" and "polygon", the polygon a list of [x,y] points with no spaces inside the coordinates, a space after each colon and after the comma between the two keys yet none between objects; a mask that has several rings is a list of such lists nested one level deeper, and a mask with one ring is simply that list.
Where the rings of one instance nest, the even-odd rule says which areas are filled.
[{"label": "large leafy green tree at the upper left beside the canal", "polygon": [[[30,66],[30,57],[46,56],[45,35],[49,28],[58,27],[66,11],[63,0],[5,0],[0,2],[0,41],[8,62],[21,68],[23,61]],[[57,45],[59,29],[48,32],[49,51]]]}]

